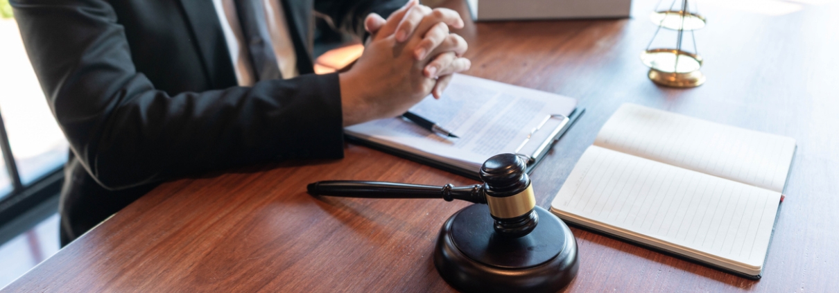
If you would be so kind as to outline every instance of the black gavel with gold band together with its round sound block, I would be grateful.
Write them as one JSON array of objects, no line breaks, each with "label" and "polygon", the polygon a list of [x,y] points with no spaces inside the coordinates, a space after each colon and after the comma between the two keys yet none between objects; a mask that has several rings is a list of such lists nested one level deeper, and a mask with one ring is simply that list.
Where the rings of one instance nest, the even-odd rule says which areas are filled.
[{"label": "black gavel with gold band together with its round sound block", "polygon": [[483,163],[482,184],[321,181],[307,190],[313,196],[479,203],[461,209],[440,229],[434,257],[440,276],[461,291],[560,290],[576,276],[576,239],[560,218],[536,206],[525,170],[521,157],[500,154]]}]

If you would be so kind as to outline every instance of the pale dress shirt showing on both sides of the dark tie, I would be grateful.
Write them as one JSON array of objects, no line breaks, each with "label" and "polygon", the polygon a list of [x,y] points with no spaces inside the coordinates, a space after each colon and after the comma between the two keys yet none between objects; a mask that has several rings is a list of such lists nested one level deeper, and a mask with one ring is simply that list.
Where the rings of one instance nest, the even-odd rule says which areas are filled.
[{"label": "pale dress shirt showing on both sides of the dark tie", "polygon": [[[221,23],[221,31],[227,41],[227,50],[230,51],[230,59],[233,69],[236,71],[236,80],[239,85],[250,86],[256,82],[253,74],[248,46],[242,35],[242,26],[239,24],[239,17],[236,12],[234,0],[212,0],[216,8],[218,20]],[[279,72],[284,79],[290,79],[298,75],[297,54],[294,52],[294,44],[289,35],[289,24],[285,21],[282,0],[262,0],[265,11],[263,25],[268,25],[268,34],[271,37],[271,46],[274,47],[274,55],[277,57]]]}]

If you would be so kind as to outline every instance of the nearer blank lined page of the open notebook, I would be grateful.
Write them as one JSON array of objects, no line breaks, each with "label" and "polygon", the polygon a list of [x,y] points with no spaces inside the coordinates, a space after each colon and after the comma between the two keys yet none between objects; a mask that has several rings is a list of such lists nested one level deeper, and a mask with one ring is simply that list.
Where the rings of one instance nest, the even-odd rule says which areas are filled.
[{"label": "nearer blank lined page of the open notebook", "polygon": [[779,200],[780,193],[590,146],[551,209],[577,224],[758,275]]}]

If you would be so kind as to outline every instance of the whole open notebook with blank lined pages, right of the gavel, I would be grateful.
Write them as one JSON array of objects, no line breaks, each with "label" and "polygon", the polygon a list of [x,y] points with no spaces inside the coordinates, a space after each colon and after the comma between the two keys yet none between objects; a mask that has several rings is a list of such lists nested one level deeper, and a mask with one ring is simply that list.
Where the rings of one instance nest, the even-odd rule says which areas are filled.
[{"label": "whole open notebook with blank lined pages, right of the gavel", "polygon": [[624,104],[551,203],[573,224],[759,278],[795,140]]}]

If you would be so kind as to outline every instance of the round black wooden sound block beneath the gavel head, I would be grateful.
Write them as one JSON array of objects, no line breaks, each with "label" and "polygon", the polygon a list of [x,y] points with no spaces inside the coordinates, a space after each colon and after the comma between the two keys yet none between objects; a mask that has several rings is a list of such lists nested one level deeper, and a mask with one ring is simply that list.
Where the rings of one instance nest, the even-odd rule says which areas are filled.
[{"label": "round black wooden sound block beneath the gavel head", "polygon": [[446,220],[434,252],[440,276],[465,292],[555,292],[574,280],[577,246],[571,229],[545,208],[530,234],[495,232],[485,204],[463,208]]}]

